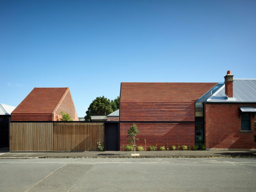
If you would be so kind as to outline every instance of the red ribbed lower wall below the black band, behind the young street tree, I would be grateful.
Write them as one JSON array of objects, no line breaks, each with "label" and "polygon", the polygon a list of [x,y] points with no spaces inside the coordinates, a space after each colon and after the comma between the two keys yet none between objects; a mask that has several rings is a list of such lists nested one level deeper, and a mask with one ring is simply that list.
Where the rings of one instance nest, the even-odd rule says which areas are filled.
[{"label": "red ribbed lower wall below the black band, behind the young street tree", "polygon": [[[124,150],[127,145],[127,130],[132,123],[120,123],[120,150]],[[158,147],[171,146],[179,144],[192,147],[195,144],[195,124],[194,123],[136,123],[140,134],[136,136],[139,141],[136,142],[137,146],[146,147],[149,150],[150,145],[156,145]],[[146,139],[146,146],[144,143]]]}]

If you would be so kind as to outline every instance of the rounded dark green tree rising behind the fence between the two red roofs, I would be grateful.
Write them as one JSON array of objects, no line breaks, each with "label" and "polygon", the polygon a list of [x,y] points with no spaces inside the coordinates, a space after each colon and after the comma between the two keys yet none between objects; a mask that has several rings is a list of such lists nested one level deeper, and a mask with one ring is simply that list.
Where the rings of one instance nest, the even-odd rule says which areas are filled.
[{"label": "rounded dark green tree rising behind the fence between the two red roofs", "polygon": [[91,121],[90,116],[92,115],[109,115],[113,113],[111,102],[106,97],[97,97],[92,101],[88,110],[86,111],[85,121]]}]

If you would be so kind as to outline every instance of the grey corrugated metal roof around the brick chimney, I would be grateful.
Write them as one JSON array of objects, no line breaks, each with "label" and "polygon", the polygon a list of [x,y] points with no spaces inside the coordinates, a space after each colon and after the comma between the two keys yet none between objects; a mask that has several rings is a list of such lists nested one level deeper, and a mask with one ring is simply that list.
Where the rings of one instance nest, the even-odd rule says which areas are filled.
[{"label": "grey corrugated metal roof around the brick chimney", "polygon": [[256,79],[234,79],[233,100],[227,100],[224,85],[207,102],[256,102]]}]

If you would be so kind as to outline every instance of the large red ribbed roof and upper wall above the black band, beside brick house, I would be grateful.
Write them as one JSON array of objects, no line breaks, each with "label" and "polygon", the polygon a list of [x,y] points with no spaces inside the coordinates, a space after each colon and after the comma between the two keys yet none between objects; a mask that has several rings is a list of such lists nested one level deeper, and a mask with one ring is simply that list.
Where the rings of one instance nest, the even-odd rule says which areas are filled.
[{"label": "large red ribbed roof and upper wall above the black band, beside brick house", "polygon": [[217,83],[121,83],[120,121],[194,121],[195,101]]}]

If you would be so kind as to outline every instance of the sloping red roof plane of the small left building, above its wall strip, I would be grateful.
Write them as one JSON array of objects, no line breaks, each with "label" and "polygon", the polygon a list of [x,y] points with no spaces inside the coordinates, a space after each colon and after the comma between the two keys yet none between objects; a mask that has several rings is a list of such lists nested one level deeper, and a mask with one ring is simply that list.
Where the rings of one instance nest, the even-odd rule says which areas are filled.
[{"label": "sloping red roof plane of the small left building, above its wall strip", "polygon": [[67,90],[35,87],[13,113],[52,113]]}]

